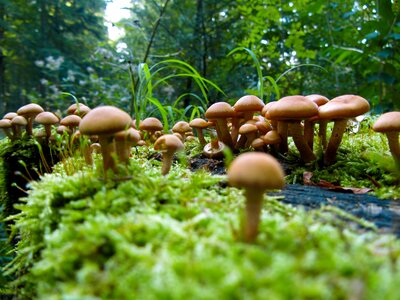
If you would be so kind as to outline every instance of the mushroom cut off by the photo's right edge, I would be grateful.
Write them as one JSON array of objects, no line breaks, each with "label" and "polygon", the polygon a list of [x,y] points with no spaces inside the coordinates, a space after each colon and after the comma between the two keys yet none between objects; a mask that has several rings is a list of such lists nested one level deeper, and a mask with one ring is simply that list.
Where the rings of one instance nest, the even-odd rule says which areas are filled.
[{"label": "mushroom cut off by the photo's right edge", "polygon": [[382,114],[378,120],[376,120],[372,129],[376,132],[382,132],[386,134],[390,153],[392,154],[396,165],[400,167],[400,111],[392,111]]}]

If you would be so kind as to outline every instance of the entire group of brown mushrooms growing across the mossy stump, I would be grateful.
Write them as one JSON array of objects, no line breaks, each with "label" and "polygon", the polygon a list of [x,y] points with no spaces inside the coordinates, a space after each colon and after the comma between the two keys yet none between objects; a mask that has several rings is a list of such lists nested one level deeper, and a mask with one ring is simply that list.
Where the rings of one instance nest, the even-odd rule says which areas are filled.
[{"label": "entire group of brown mushrooms growing across the mossy stump", "polygon": [[[203,154],[209,158],[223,156],[225,148],[232,152],[252,148],[255,151],[239,155],[227,171],[230,184],[245,189],[242,238],[252,242],[258,232],[264,192],[284,186],[284,172],[273,155],[286,154],[289,151],[288,138],[291,137],[301,159],[305,163],[312,162],[316,159],[314,138],[318,136],[324,163],[329,165],[335,161],[348,120],[367,113],[369,109],[368,101],[357,95],[342,95],[331,100],[317,94],[296,95],[268,104],[256,96],[246,95],[233,106],[227,102],[212,104],[205,112],[207,120],[179,121],[171,133],[164,133],[164,126],[157,118],[149,117],[137,122],[114,106],[90,109],[75,103],[67,109],[67,116],[61,118],[30,103],[16,113],[7,113],[0,120],[0,128],[10,140],[20,138],[24,129],[28,136],[44,143],[54,140],[53,132],[67,135],[72,144],[78,141],[77,144],[81,145],[80,150],[88,164],[92,164],[94,151],[101,152],[104,176],[109,171],[118,173],[117,164],[129,161],[134,146],[153,146],[160,151],[163,175],[168,174],[174,153],[183,150],[184,143],[189,140],[198,140]],[[327,134],[328,122],[334,122],[330,134]],[[34,123],[43,128],[34,133]],[[316,127],[317,133],[314,132]],[[204,138],[205,130],[209,132],[209,142]],[[400,165],[400,112],[381,115],[373,130],[387,134],[390,151]],[[85,143],[79,143],[82,140]]]}]

